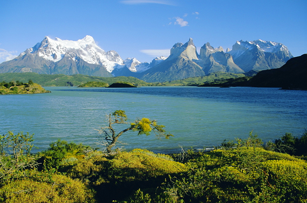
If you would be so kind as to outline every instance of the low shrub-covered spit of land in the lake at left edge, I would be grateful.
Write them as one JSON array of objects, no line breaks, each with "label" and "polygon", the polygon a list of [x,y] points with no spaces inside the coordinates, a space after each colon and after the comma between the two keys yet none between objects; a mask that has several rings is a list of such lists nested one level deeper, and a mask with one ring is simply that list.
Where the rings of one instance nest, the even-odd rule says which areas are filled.
[{"label": "low shrub-covered spit of land in the lake at left edge", "polygon": [[45,90],[39,84],[33,83],[32,80],[29,80],[28,83],[19,82],[18,80],[16,82],[0,82],[0,94],[37,94],[49,92],[49,90]]}]

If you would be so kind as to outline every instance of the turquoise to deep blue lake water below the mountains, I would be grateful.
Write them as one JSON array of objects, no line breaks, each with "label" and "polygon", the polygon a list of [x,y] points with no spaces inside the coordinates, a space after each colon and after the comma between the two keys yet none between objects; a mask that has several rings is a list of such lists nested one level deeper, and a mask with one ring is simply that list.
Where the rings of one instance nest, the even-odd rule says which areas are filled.
[{"label": "turquoise to deep blue lake water below the mountains", "polygon": [[[105,115],[121,109],[129,121],[147,117],[165,125],[170,139],[126,132],[126,149],[155,152],[217,146],[224,139],[247,138],[253,130],[264,141],[286,132],[300,136],[307,127],[307,91],[278,88],[45,87],[48,94],[0,95],[0,134],[34,133],[34,145],[44,150],[57,139],[97,147],[97,131]],[[122,130],[128,125],[118,125]]]}]

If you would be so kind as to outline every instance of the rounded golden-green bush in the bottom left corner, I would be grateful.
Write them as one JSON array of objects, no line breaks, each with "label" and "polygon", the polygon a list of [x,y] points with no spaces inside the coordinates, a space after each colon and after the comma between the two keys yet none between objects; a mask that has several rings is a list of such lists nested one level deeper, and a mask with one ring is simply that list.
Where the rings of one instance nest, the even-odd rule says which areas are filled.
[{"label": "rounded golden-green bush in the bottom left corner", "polygon": [[51,180],[15,180],[0,188],[0,200],[7,203],[95,202],[94,192],[80,181],[60,174],[53,174]]}]

